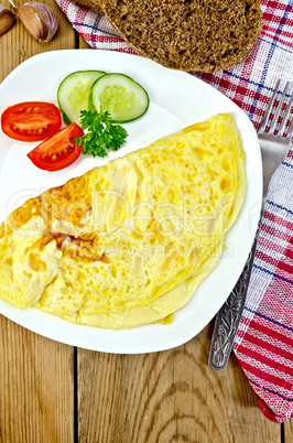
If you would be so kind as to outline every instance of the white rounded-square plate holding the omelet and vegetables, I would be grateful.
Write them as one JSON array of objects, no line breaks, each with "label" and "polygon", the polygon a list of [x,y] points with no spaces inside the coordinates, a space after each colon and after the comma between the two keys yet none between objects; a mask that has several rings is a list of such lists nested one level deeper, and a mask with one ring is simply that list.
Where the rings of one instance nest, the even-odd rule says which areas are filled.
[{"label": "white rounded-square plate holding the omelet and vegetables", "polygon": [[[217,268],[200,284],[174,322],[143,325],[132,329],[108,331],[73,325],[34,309],[24,311],[0,300],[0,313],[46,337],[100,352],[137,354],[167,349],[193,338],[223,305],[245,266],[257,228],[262,195],[262,169],[256,131],[241,109],[227,97],[194,76],[171,71],[130,54],[93,50],[68,50],[36,55],[17,67],[0,85],[0,112],[20,101],[56,102],[61,80],[80,69],[121,72],[144,86],[150,95],[146,115],[127,125],[129,142],[107,159],[84,156],[65,171],[37,170],[26,158],[32,143],[13,142],[0,131],[0,222],[29,197],[63,184],[94,165],[122,156],[183,126],[218,112],[231,112],[246,151],[247,196],[241,214],[227,238],[227,248]],[[37,143],[36,143],[37,144]]]}]

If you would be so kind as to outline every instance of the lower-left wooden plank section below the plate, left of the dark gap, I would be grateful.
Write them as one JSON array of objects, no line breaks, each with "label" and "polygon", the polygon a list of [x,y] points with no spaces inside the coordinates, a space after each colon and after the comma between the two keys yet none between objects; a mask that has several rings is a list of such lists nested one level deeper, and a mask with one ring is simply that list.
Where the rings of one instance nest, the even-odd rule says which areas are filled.
[{"label": "lower-left wooden plank section below the plate, left of the dark gap", "polygon": [[73,442],[73,348],[2,316],[0,331],[0,441]]}]

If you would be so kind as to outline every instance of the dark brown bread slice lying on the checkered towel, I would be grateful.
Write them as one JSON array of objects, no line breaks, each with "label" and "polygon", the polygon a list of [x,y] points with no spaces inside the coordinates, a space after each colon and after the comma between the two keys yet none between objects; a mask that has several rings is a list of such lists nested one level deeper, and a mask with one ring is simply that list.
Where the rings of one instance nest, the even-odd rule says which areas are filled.
[{"label": "dark brown bread slice lying on the checkered towel", "polygon": [[137,52],[188,72],[236,66],[251,53],[262,26],[260,0],[90,1]]}]

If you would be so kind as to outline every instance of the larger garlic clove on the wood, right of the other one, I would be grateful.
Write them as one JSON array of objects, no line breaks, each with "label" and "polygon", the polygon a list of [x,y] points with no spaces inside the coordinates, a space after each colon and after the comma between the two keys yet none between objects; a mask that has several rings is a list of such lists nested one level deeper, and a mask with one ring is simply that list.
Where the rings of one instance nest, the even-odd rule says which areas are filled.
[{"label": "larger garlic clove on the wood, right of the other one", "polygon": [[58,19],[52,9],[37,1],[28,1],[18,9],[18,17],[37,42],[50,42],[58,29]]}]

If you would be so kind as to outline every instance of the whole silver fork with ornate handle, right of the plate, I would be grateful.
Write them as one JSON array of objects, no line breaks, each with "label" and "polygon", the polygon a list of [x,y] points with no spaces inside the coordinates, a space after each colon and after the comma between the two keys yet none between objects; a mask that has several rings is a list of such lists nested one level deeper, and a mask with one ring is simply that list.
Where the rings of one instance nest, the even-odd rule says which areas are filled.
[{"label": "whole silver fork with ornate handle, right of the plate", "polygon": [[[291,91],[291,98],[285,108],[285,115],[282,118],[283,107],[285,106],[285,100],[287,99],[287,97],[290,97],[289,93],[293,86],[293,82],[287,82],[284,90],[281,91],[279,106],[276,108],[273,119],[271,120],[271,114],[274,107],[274,102],[278,94],[280,94],[279,91],[280,85],[281,80],[279,80],[276,84],[276,87],[273,91],[273,96],[270,100],[269,107],[263,116],[262,122],[258,131],[258,139],[262,156],[262,171],[263,171],[263,194],[262,194],[260,220],[271,176],[275,171],[275,169],[285,159],[293,136],[293,122],[291,126],[289,126],[289,129],[286,129],[287,127],[286,123],[290,118],[290,112],[293,105],[293,90]],[[269,127],[268,131],[265,131],[267,127]],[[287,131],[286,136],[284,136],[285,131]],[[234,339],[245,307],[247,290],[249,285],[254,252],[257,248],[259,228],[260,228],[260,222],[253,240],[252,248],[250,250],[242,273],[239,277],[229,298],[227,299],[227,301],[224,303],[224,305],[216,315],[210,343],[209,358],[208,358],[208,366],[216,370],[225,369],[229,360]]]}]

